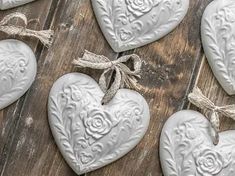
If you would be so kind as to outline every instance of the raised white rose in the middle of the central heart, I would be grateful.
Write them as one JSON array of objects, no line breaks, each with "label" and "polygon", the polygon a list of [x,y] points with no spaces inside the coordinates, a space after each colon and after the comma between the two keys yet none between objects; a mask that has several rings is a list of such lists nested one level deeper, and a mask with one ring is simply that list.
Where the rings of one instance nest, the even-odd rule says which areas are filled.
[{"label": "raised white rose in the middle of the central heart", "polygon": [[102,138],[114,126],[110,114],[99,109],[91,110],[88,117],[84,118],[84,125],[87,134],[95,139]]}]

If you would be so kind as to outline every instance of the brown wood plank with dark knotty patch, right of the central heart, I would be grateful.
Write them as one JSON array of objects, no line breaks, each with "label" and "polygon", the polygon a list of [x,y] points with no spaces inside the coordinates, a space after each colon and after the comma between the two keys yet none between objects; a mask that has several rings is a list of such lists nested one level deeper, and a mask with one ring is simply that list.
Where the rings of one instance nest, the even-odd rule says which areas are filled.
[{"label": "brown wood plank with dark knotty patch, right of the central heart", "polygon": [[183,107],[194,72],[201,61],[200,19],[211,0],[190,1],[190,10],[171,34],[134,52],[145,58],[141,93],[151,110],[149,130],[142,142],[119,161],[87,176],[160,176],[158,146],[167,118]]}]

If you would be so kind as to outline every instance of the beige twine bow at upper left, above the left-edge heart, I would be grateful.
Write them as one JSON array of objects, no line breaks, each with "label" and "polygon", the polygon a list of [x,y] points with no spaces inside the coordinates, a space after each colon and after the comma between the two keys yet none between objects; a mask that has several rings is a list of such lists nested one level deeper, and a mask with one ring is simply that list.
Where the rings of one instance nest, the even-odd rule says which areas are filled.
[{"label": "beige twine bow at upper left, above the left-edge heart", "polygon": [[[24,22],[24,26],[16,26],[12,25],[9,22],[14,19],[18,18],[21,19]],[[53,30],[31,30],[27,29],[29,21],[27,17],[19,12],[11,13],[7,16],[5,16],[0,21],[0,31],[7,33],[8,35],[19,35],[19,36],[28,36],[28,37],[36,37],[38,38],[46,47],[49,47],[52,45],[53,42]]]}]

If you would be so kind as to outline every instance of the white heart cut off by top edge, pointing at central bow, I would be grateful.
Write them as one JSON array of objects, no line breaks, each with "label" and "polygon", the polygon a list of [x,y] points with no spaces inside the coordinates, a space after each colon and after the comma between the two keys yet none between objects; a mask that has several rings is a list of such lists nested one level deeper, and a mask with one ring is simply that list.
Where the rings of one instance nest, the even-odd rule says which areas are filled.
[{"label": "white heart cut off by top edge, pointing at central bow", "polygon": [[189,0],[92,0],[104,36],[122,52],[171,32],[187,13]]}]

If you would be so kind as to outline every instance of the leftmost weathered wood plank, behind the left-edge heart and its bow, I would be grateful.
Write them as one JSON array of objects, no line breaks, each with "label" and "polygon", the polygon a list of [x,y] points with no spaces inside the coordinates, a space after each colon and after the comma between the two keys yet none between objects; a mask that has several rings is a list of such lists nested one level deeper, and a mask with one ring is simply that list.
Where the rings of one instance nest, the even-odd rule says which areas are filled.
[{"label": "leftmost weathered wood plank, behind the left-edge heart and its bow", "polygon": [[[49,11],[51,8],[52,0],[40,0],[35,1],[33,3],[27,4],[25,6],[21,6],[19,8],[14,8],[11,10],[0,11],[0,19],[2,19],[5,15],[12,12],[22,12],[24,13],[28,19],[38,19],[40,21],[40,25],[38,24],[29,24],[30,29],[42,29],[46,28],[47,17],[49,15]],[[13,20],[12,24],[21,23],[19,20]],[[13,36],[7,36],[5,33],[0,33],[0,39],[14,38]],[[19,40],[23,40],[27,43],[35,53],[40,53],[42,47],[38,48],[38,46],[42,46],[39,44],[38,40],[35,38],[21,38],[16,37]],[[2,171],[5,166],[5,161],[9,154],[9,145],[12,142],[12,137],[15,134],[15,127],[17,126],[20,109],[22,107],[22,103],[24,101],[24,97],[22,97],[19,101],[12,104],[11,106],[5,108],[0,111],[0,170]]]}]

